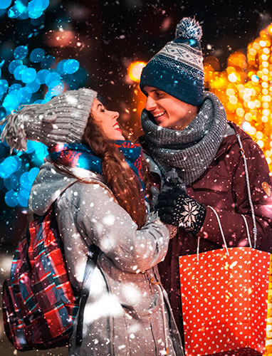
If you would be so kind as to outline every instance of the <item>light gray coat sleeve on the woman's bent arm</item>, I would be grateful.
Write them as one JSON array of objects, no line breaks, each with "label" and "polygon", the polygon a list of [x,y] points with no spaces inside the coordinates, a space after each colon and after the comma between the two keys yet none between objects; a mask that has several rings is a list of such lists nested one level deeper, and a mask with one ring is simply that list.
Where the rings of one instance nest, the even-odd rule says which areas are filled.
[{"label": "light gray coat sleeve on the woman's bent arm", "polygon": [[78,231],[87,246],[98,246],[123,271],[146,271],[167,253],[167,227],[156,219],[137,230],[127,211],[100,184],[77,183],[68,188],[58,201],[58,220],[67,236],[64,240],[73,239],[69,230]]}]

